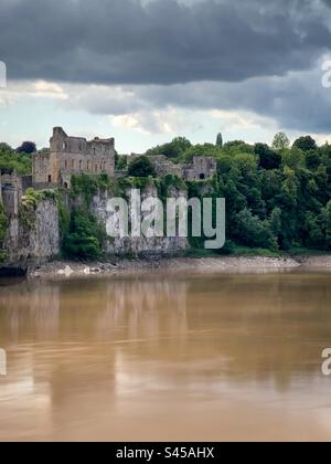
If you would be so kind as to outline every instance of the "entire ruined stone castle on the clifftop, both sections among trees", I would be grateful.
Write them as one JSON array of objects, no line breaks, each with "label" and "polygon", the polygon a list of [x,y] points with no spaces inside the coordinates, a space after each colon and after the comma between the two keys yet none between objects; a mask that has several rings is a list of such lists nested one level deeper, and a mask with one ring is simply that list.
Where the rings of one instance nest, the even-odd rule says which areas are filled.
[{"label": "entire ruined stone castle on the clifftop, both sections among trees", "polygon": [[[127,171],[115,170],[115,139],[87,141],[82,137],[70,137],[62,127],[53,129],[50,149],[33,155],[32,184],[35,189],[63,187],[71,189],[72,176],[82,173],[102,175],[110,178],[126,177]],[[131,155],[130,160],[141,155]],[[174,164],[163,155],[148,157],[157,176],[177,176],[189,181],[204,181],[216,175],[216,160],[196,156],[191,164]]]}]

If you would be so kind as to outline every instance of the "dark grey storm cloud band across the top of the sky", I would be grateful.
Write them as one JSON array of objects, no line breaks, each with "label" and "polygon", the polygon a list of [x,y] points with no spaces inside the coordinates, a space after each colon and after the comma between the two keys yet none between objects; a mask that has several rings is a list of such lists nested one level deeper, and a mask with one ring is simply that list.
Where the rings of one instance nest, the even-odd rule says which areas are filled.
[{"label": "dark grey storm cloud band across the top of the sky", "polygon": [[331,44],[323,8],[319,0],[0,0],[0,59],[11,78],[73,83],[284,75],[309,68]]}]

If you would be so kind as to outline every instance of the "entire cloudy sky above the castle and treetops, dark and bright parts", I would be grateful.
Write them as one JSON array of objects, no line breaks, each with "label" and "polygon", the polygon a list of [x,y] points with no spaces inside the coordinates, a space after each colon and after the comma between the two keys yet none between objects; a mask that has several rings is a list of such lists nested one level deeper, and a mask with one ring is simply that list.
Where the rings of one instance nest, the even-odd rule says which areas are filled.
[{"label": "entire cloudy sky above the castle and treetops, dark and bright parts", "polygon": [[330,48],[331,0],[0,0],[0,140],[331,140]]}]

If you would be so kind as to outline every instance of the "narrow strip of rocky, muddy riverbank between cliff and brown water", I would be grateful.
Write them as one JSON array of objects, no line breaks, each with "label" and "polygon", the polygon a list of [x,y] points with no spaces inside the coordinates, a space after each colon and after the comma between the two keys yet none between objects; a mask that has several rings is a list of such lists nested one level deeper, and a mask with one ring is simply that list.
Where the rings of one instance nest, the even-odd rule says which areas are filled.
[{"label": "narrow strip of rocky, muddy riverbank between cliff and brown water", "polygon": [[265,272],[302,267],[331,271],[331,255],[263,257],[169,257],[153,260],[114,260],[108,262],[78,263],[53,261],[31,271],[29,278],[63,278],[88,275],[143,274],[154,272]]}]

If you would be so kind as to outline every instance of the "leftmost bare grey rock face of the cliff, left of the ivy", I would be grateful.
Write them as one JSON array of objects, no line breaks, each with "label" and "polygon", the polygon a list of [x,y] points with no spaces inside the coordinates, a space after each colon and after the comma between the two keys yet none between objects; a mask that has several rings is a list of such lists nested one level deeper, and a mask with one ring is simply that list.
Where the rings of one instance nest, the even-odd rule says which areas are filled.
[{"label": "leftmost bare grey rock face of the cliff, left of the ivy", "polygon": [[9,219],[3,242],[4,263],[0,267],[25,271],[60,253],[58,210],[52,200],[39,202],[35,210]]}]

